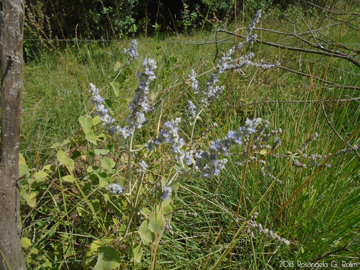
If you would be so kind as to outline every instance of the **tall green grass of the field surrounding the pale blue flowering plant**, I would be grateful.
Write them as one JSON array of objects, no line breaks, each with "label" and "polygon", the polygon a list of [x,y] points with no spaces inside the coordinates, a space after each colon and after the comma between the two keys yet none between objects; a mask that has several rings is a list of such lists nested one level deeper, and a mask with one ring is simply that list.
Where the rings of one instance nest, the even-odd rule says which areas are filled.
[{"label": "tall green grass of the field surrounding the pale blue flowering plant", "polygon": [[[293,31],[293,26],[287,24],[289,21],[287,19],[290,19],[296,24],[297,31],[307,30],[306,26],[301,24],[301,18],[296,12],[284,21],[273,19],[274,14],[265,16],[262,27],[269,28],[271,25],[272,29],[283,32]],[[316,22],[313,23],[315,25]],[[323,22],[326,23],[328,22]],[[247,22],[244,22],[244,25],[247,25]],[[327,34],[336,39],[340,27],[341,25],[331,28]],[[236,26],[228,25],[227,28],[232,31]],[[265,31],[262,31],[261,35],[264,40],[272,42],[283,38]],[[228,35],[219,34],[218,39],[227,37]],[[35,172],[45,165],[56,165],[57,152],[56,149],[51,148],[53,143],[62,143],[65,139],[75,137],[78,138],[77,143],[79,143],[84,138],[83,134],[78,133],[80,129],[78,119],[82,115],[89,114],[93,109],[86,93],[89,82],[95,83],[102,89],[101,95],[104,98],[113,101],[111,107],[113,116],[127,109],[128,105],[121,103],[120,98],[133,97],[134,89],[138,86],[134,71],[141,70],[141,61],[145,57],[156,59],[157,79],[151,83],[150,89],[154,93],[159,93],[158,98],[164,99],[164,105],[161,106],[160,103],[157,106],[150,122],[136,137],[135,144],[143,145],[150,137],[156,136],[158,121],[162,125],[168,119],[175,117],[183,119],[181,136],[189,141],[192,127],[186,120],[186,104],[191,98],[190,86],[180,84],[169,91],[164,92],[164,89],[184,80],[183,76],[175,72],[176,67],[182,68],[186,74],[191,69],[201,74],[211,68],[215,45],[194,46],[186,43],[198,39],[213,40],[214,32],[173,35],[166,37],[167,41],[174,41],[168,43],[138,39],[140,60],[133,61],[129,65],[133,70],[131,75],[123,72],[116,80],[120,83],[119,97],[115,96],[112,88],[109,87],[109,82],[117,75],[114,72],[115,63],[127,61],[122,53],[125,43],[74,43],[65,50],[44,52],[37,61],[26,64],[21,152],[29,167]],[[235,38],[231,41],[235,41]],[[340,41],[359,43],[359,38],[354,34],[354,30],[346,27],[341,32]],[[289,46],[299,45],[292,40],[284,42],[289,42]],[[231,44],[228,43],[220,44],[219,50],[225,52],[230,46]],[[251,50],[256,52],[256,58],[259,60],[273,62],[279,59],[283,66],[303,73],[309,73],[310,69],[313,76],[321,78],[330,60],[316,55],[302,55],[301,68],[299,68],[300,54],[297,52],[278,50],[259,44],[254,45]],[[327,80],[341,85],[359,86],[358,67],[339,59],[333,59],[330,66]],[[204,85],[206,80],[206,76],[203,76],[199,82]],[[295,153],[315,132],[319,137],[311,143],[307,153],[309,155],[333,153],[341,144],[341,140],[329,127],[319,103],[260,103],[256,106],[242,106],[241,103],[249,104],[265,100],[314,100],[318,95],[325,99],[337,100],[355,98],[359,93],[351,89],[328,87],[325,84],[321,87],[318,81],[314,81],[312,85],[309,78],[287,73],[281,69],[247,68],[245,77],[237,73],[227,73],[221,77],[220,84],[225,86],[221,98],[212,103],[203,112],[202,119],[195,124],[194,138],[201,138],[204,129],[215,121],[219,124],[218,128],[212,128],[205,135],[205,139],[200,139],[203,148],[208,147],[210,140],[223,138],[229,130],[241,127],[246,118],[261,117],[269,120],[269,131],[279,128],[283,131],[277,135],[281,137],[282,145],[274,153]],[[360,123],[359,101],[327,102],[325,106],[333,127],[346,139]],[[126,116],[125,113],[119,117],[120,125],[124,124],[123,120]],[[269,143],[272,144],[274,139],[271,138]],[[350,140],[351,145],[358,144],[358,139],[359,135],[355,134]],[[108,147],[111,150],[108,156],[116,158],[121,146],[113,137],[105,135],[104,141],[99,142],[96,148]],[[82,153],[92,149],[94,146],[91,143],[80,148]],[[64,147],[63,150],[71,152],[74,147]],[[232,147],[230,152],[242,151],[243,148]],[[247,167],[234,166],[228,172],[227,170],[238,160],[236,155],[228,157],[227,170],[222,171],[220,177],[210,179],[200,177],[182,181],[173,209],[213,196],[220,181],[222,184],[217,194],[222,196],[194,204],[172,215],[171,226],[174,235],[165,231],[157,246],[155,268],[210,269],[228,250],[235,235],[237,243],[222,260],[218,269],[277,269],[280,261],[314,263],[320,258],[328,263],[332,260],[359,262],[360,236],[357,235],[360,225],[359,158],[353,153],[336,156],[330,160],[332,163],[330,168],[316,172],[317,167],[308,166],[307,169],[299,169],[293,165],[291,158],[278,158],[274,153],[266,156],[257,153],[254,156],[258,159],[263,157],[266,166],[269,166],[268,170],[280,179],[282,184],[274,184],[271,177],[263,176],[262,165],[251,160],[248,160]],[[140,153],[137,158],[143,157],[145,154]],[[172,157],[171,151],[164,152],[164,159]],[[299,160],[304,161],[304,159]],[[22,180],[22,193],[37,194],[38,202],[34,209],[31,209],[25,200],[22,202],[24,228],[22,237],[27,237],[32,242],[31,247],[24,249],[29,268],[82,269],[81,262],[86,248],[94,240],[105,237],[103,228],[107,230],[112,226],[116,230],[113,218],[117,212],[110,210],[112,209],[110,202],[104,199],[100,189],[93,188],[88,180],[82,179],[86,175],[87,167],[93,164],[99,164],[99,159],[88,156],[86,161],[76,163],[76,177],[80,179],[79,185],[83,188],[84,194],[79,192],[76,185],[59,181],[60,176],[63,176],[61,175],[63,171],[60,170],[56,171],[51,179],[40,182],[37,186],[30,185],[33,172],[30,173],[30,177]],[[120,160],[116,168],[120,175],[126,177],[125,161]],[[149,175],[146,185],[151,186],[151,177],[157,179],[171,175],[172,169],[166,171],[167,169],[168,167],[153,165],[151,167],[153,174]],[[279,213],[282,206],[310,177],[309,184],[301,189]],[[100,201],[98,214],[94,214],[94,209],[89,207],[89,201],[92,200]],[[259,212],[256,221],[264,228],[273,229],[281,237],[290,240],[291,245],[279,246],[279,242],[259,234],[253,239],[247,235],[246,228],[236,233],[239,226],[235,226],[233,216],[236,216],[239,204],[240,217],[247,218],[251,212]],[[117,208],[119,213],[126,212],[127,209],[120,200]],[[194,218],[185,215],[186,212],[196,212],[198,216]],[[279,213],[278,217],[272,222],[277,213]],[[24,221],[26,215],[29,216]],[[138,238],[134,239],[139,242]],[[350,242],[348,247],[340,250]],[[38,253],[34,248],[38,249]],[[128,264],[127,267],[131,268],[126,248],[120,246],[117,248],[120,251],[122,265]],[[143,248],[142,261],[133,265],[134,269],[151,268],[154,247],[143,246]],[[332,256],[324,256],[332,252],[334,252]]]}]

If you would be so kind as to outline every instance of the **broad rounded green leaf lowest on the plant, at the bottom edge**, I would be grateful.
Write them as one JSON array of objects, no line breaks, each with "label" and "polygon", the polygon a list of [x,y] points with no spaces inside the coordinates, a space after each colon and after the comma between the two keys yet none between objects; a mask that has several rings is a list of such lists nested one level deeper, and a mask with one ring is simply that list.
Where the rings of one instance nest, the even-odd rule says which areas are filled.
[{"label": "broad rounded green leaf lowest on the plant, at the bottom edge", "polygon": [[120,266],[121,258],[116,249],[111,246],[98,248],[99,257],[94,266],[94,270],[113,270]]}]

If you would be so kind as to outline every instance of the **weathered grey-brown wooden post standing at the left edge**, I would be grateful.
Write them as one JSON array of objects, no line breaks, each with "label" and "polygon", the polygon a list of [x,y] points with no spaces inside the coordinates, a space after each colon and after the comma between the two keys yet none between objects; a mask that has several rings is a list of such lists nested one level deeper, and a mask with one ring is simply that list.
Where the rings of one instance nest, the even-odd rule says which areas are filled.
[{"label": "weathered grey-brown wooden post standing at the left edge", "polygon": [[1,26],[0,269],[25,270],[20,241],[20,116],[23,97],[22,0],[3,0]]}]

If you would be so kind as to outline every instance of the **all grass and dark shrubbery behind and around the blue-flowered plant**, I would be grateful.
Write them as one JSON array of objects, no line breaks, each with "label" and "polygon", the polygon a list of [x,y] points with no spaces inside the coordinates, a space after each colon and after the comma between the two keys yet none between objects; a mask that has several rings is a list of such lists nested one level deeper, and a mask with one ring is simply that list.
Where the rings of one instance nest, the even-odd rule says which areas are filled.
[{"label": "all grass and dark shrubbery behind and around the blue-flowered plant", "polygon": [[[92,0],[71,2],[71,5],[65,1],[27,2],[28,37],[42,39],[42,43],[31,43],[31,46],[37,44],[41,53],[38,48],[28,47],[29,59],[24,67],[21,152],[31,171],[21,182],[22,237],[29,240],[24,243],[29,269],[89,267],[83,259],[93,242],[103,239],[104,235],[99,232],[99,228],[109,228],[115,235],[116,230],[121,231],[120,225],[114,224],[113,210],[101,192],[85,190],[87,200],[100,202],[99,223],[73,184],[60,182],[61,175],[56,173],[53,177],[37,179],[34,172],[57,172],[53,169],[57,166],[55,149],[59,147],[55,143],[62,145],[60,147],[64,151],[73,153],[75,147],[70,140],[75,137],[81,139],[83,136],[78,119],[92,110],[87,94],[89,82],[107,89],[102,92],[104,98],[119,104],[111,107],[114,116],[120,115],[119,119],[127,116],[127,113],[122,113],[128,104],[126,101],[121,102],[133,97],[138,79],[130,71],[124,71],[117,79],[120,85],[118,97],[108,87],[109,82],[117,75],[114,72],[116,62],[127,62],[127,56],[123,53],[123,48],[128,46],[123,40],[125,36],[136,34],[138,38],[140,60],[131,63],[132,70],[140,70],[145,57],[156,60],[157,79],[152,82],[151,90],[158,95],[157,98],[164,99],[164,105],[157,107],[149,124],[142,131],[142,137],[138,138],[136,143],[141,145],[148,138],[154,137],[159,120],[163,123],[174,117],[187,119],[186,103],[191,97],[190,86],[183,83],[170,91],[164,92],[164,89],[187,79],[186,75],[191,69],[200,74],[214,65],[217,51],[215,44],[211,43],[215,38],[214,27],[229,31],[246,27],[259,7],[265,9],[259,27],[286,33],[294,32],[294,28],[297,33],[307,31],[308,26],[304,21],[309,24],[311,22],[311,27],[314,28],[329,26],[332,24],[329,16],[334,16],[341,23],[345,20],[350,5],[352,13],[359,13],[358,3],[349,1],[335,4],[316,2],[341,13],[338,15],[315,7],[302,9],[302,5],[308,5],[305,1],[294,3],[298,5],[287,5],[285,3],[290,3],[287,1],[237,2],[236,7],[233,1],[213,1],[212,4],[205,0],[176,2],[171,6],[166,4],[168,2],[160,2],[139,0],[108,3]],[[32,18],[29,11],[33,14]],[[43,19],[39,19],[41,17]],[[157,27],[156,23],[161,27]],[[52,39],[56,36],[59,39],[74,38],[77,24],[78,39],[118,39],[118,42],[83,42],[76,39],[71,42],[46,42],[50,37],[50,30]],[[202,28],[205,24],[208,24],[206,29]],[[352,21],[352,24],[355,25],[353,28],[335,25],[326,34],[333,41],[339,37],[339,42],[346,44],[344,46],[357,49],[360,43],[357,34],[359,19]],[[187,31],[181,33],[180,30]],[[257,30],[257,33],[261,39],[269,42],[305,46],[296,39],[288,39],[275,32]],[[218,40],[227,38],[228,34],[218,33]],[[237,37],[232,37],[220,43],[220,56],[236,41],[239,41]],[[199,45],[203,42],[210,43]],[[280,50],[264,44],[254,44],[247,49],[254,51],[256,58],[264,62],[279,60],[282,66],[313,77],[322,78],[326,75],[327,80],[340,85],[360,86],[359,68],[342,59],[330,60],[321,55]],[[176,72],[177,67],[185,74]],[[206,78],[201,78],[200,81],[204,83]],[[319,137],[311,143],[307,153],[333,153],[341,140],[328,124],[321,104],[289,101],[316,100],[319,97],[330,100],[324,102],[327,116],[343,138],[347,138],[360,123],[360,106],[356,99],[358,89],[322,84],[280,68],[265,71],[247,68],[244,76],[230,73],[221,78],[221,83],[226,91],[209,107],[202,116],[202,122],[195,127],[196,136],[201,137],[209,125],[215,121],[219,124],[220,128],[212,129],[206,134],[206,139],[202,141],[204,145],[207,145],[207,141],[222,138],[229,130],[242,126],[246,118],[261,117],[270,121],[268,132],[279,128],[283,131],[279,135],[282,145],[275,153],[294,154],[315,132]],[[348,101],[340,102],[339,99]],[[275,102],[267,103],[269,100]],[[253,102],[260,103],[250,104]],[[191,133],[186,123],[181,130],[184,136]],[[358,142],[357,133],[350,143],[358,145]],[[114,160],[117,158],[120,146],[112,137],[106,135],[98,143],[98,148],[111,150],[107,156]],[[80,152],[84,154],[93,151],[93,147],[90,143],[85,143]],[[163,157],[170,158],[170,152]],[[271,177],[261,173],[259,163],[250,161],[246,166],[235,166],[222,172],[220,177],[182,182],[177,191],[174,209],[213,196],[220,181],[222,184],[216,194],[222,196],[173,214],[171,225],[174,235],[164,233],[156,256],[153,247],[149,246],[144,250],[141,263],[133,264],[129,269],[150,268],[154,264],[153,256],[156,257],[156,269],[209,269],[226,250],[239,228],[229,213],[239,212],[241,217],[247,217],[255,206],[260,213],[257,221],[290,240],[291,245],[279,245],[261,235],[253,239],[244,230],[237,236],[238,243],[219,269],[277,269],[283,260],[359,262],[359,158],[350,151],[334,157],[330,168],[317,171],[312,166],[306,169],[296,168],[291,158],[257,153],[258,159],[262,157],[267,161],[268,171],[276,175],[282,184],[266,191],[272,183]],[[75,160],[78,179],[83,179],[89,166],[99,163],[95,155],[86,160]],[[236,161],[236,157],[230,156],[227,169]],[[121,170],[124,165],[120,161],[117,166]],[[160,168],[155,165],[151,170],[160,172]],[[309,185],[301,188],[309,178]],[[154,179],[149,176],[149,185]],[[81,181],[86,185],[85,180]],[[265,192],[265,199],[257,205]],[[289,204],[281,210],[288,200]],[[125,205],[122,207],[126,208]],[[192,217],[188,212],[196,212],[197,217]],[[274,217],[277,218],[273,221]],[[125,267],[129,265],[128,251],[124,247],[118,248],[121,265]]]}]

